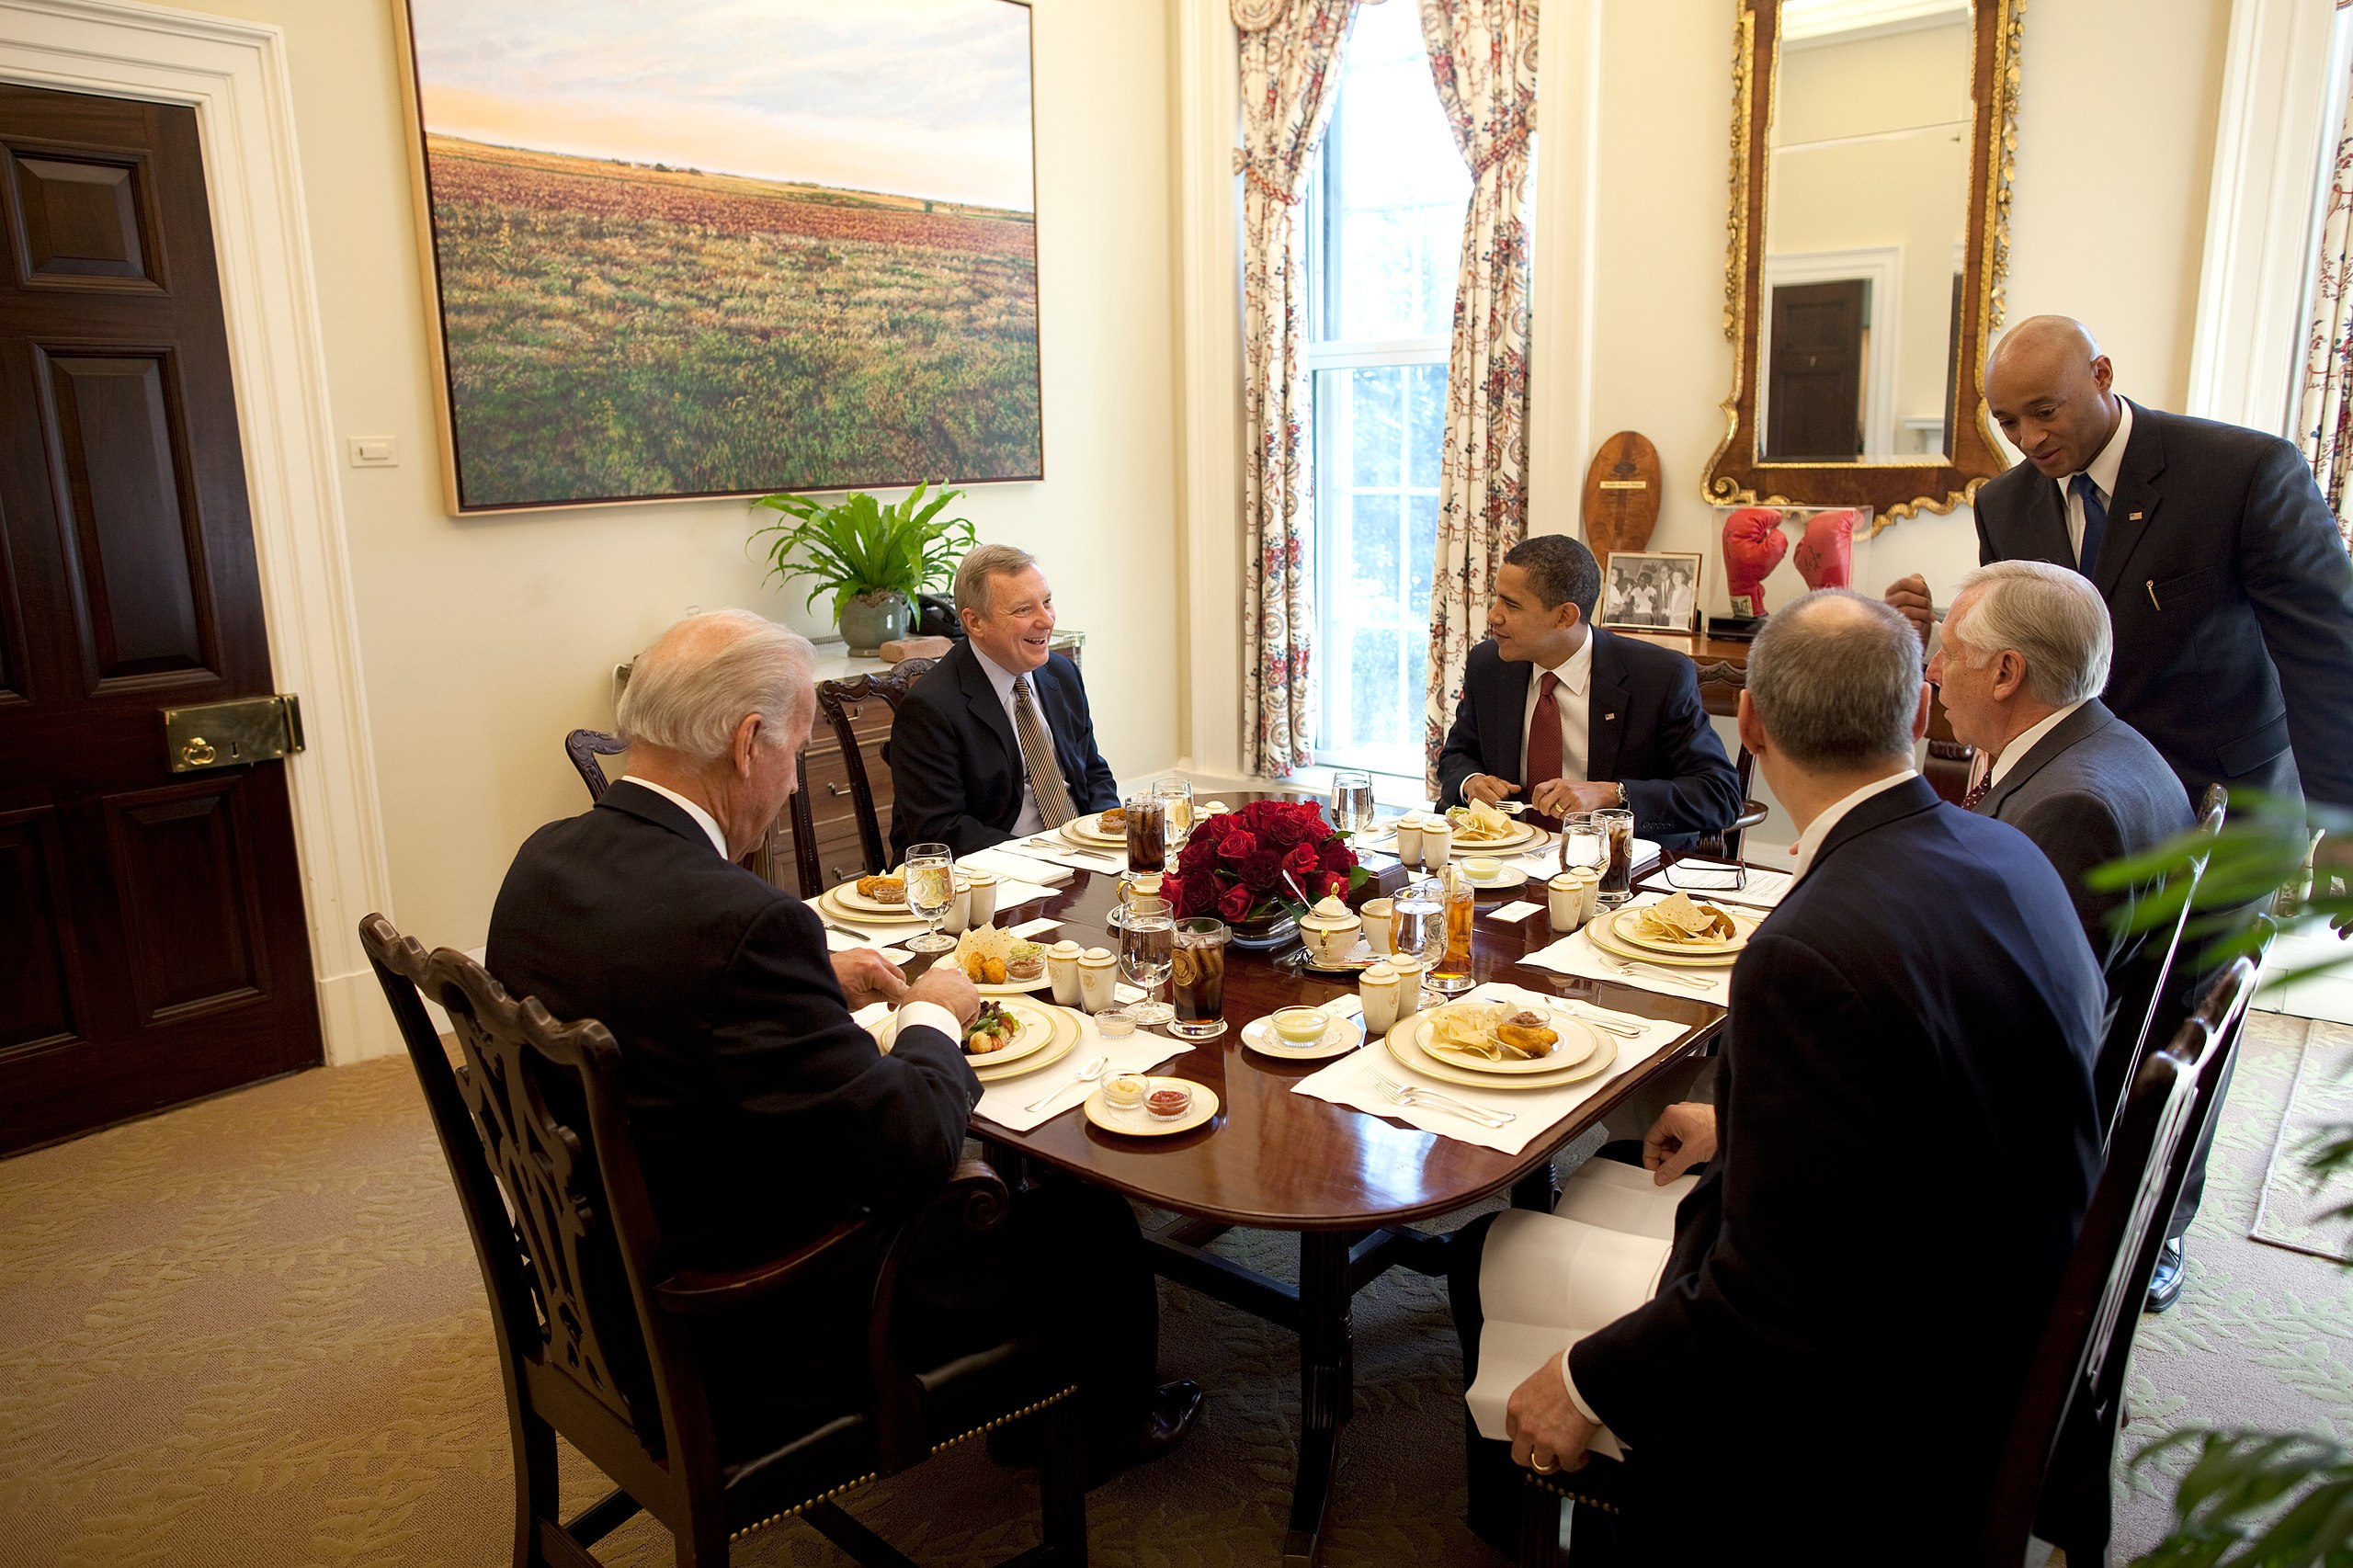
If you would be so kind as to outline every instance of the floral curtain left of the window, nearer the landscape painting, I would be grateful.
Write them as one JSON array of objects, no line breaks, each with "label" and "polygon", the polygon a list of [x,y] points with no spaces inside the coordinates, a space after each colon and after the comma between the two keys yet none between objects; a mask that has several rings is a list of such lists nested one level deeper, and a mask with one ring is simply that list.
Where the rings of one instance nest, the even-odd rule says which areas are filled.
[{"label": "floral curtain left of the window, nearer the landscape painting", "polygon": [[1339,99],[1353,0],[1233,0],[1242,31],[1242,760],[1285,777],[1313,760],[1315,629],[1308,501],[1308,153]]}]

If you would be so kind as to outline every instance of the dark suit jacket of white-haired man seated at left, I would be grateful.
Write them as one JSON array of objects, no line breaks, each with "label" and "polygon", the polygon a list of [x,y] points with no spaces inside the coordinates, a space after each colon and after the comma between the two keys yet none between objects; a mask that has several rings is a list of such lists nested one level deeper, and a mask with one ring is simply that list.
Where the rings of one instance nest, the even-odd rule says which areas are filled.
[{"label": "dark suit jacket of white-haired man seated at left", "polygon": [[981,1097],[936,1029],[875,1050],[816,913],[638,784],[532,833],[499,888],[487,968],[560,1019],[612,1029],[664,1241],[704,1267],[936,1189]]}]

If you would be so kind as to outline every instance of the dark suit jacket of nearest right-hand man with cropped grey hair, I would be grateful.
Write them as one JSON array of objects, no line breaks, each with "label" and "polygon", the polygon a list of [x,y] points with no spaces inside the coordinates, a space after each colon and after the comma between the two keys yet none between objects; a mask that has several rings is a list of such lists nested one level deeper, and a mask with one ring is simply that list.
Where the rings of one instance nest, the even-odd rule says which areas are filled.
[{"label": "dark suit jacket of nearest right-hand man with cropped grey hair", "polygon": [[1925,779],[1831,829],[1732,970],[1718,1158],[1657,1297],[1569,1349],[1654,1497],[1734,1540],[1765,1521],[1727,1495],[1819,1528],[1805,1476],[1835,1455],[1840,1530],[1977,1561],[2099,1172],[2099,1008],[2017,829]]}]

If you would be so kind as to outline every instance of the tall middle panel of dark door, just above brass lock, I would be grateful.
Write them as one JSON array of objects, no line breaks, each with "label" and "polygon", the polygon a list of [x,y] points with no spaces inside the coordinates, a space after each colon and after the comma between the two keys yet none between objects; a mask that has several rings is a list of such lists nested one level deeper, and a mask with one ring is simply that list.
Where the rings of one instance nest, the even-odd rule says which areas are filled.
[{"label": "tall middle panel of dark door, just above brass lock", "polygon": [[42,412],[64,480],[71,586],[96,678],[209,671],[202,542],[191,539],[181,506],[193,483],[165,398],[169,356],[35,346],[33,363],[49,393]]}]

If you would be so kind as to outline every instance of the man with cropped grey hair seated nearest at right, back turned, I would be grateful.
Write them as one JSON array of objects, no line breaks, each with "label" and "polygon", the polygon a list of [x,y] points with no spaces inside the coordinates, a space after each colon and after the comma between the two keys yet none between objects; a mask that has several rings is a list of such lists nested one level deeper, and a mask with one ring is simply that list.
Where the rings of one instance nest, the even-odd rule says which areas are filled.
[{"label": "man with cropped grey hair seated nearest at right, back turned", "polygon": [[[1894,610],[1842,589],[1777,610],[1739,725],[1800,833],[1732,970],[1715,1107],[1671,1107],[1642,1147],[1659,1184],[1706,1172],[1657,1295],[1513,1389],[1511,1460],[1574,1469],[1607,1424],[1626,1561],[1795,1561],[1826,1530],[1977,1561],[2099,1170],[2099,968],[2033,843],[1913,772],[1927,687]],[[1454,1248],[1466,1370],[1480,1253],[1572,1222],[1482,1224]],[[1473,1523],[1482,1502],[1508,1528],[1475,1462]],[[1581,1509],[1579,1544],[1609,1526]]]}]

